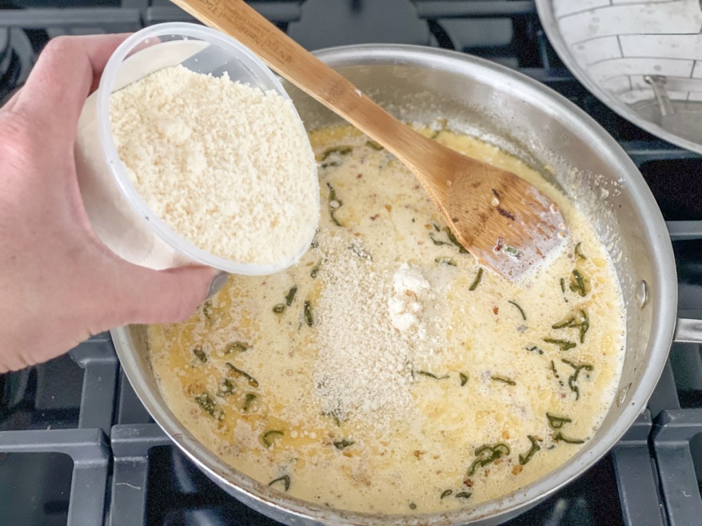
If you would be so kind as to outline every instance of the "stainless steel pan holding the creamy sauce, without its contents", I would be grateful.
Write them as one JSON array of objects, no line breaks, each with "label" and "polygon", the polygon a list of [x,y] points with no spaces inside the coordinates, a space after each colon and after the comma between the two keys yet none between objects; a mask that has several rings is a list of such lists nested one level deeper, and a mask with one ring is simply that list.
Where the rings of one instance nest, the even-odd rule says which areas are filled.
[{"label": "stainless steel pan holding the creamy sauce, without its contents", "polygon": [[[467,55],[414,46],[345,46],[317,56],[402,119],[429,123],[444,117],[449,128],[480,135],[519,156],[559,184],[595,225],[616,263],[628,331],[623,375],[602,427],[567,464],[500,499],[426,515],[349,513],[272,490],[206,450],[161,397],[144,327],[112,331],[121,365],[173,442],[220,487],[275,520],[291,525],[498,524],[592,466],[644,410],[676,326],[677,277],[665,222],[618,144],[580,109],[521,74]],[[337,120],[296,88],[289,93],[310,128]],[[702,340],[699,325],[680,323],[681,336]]]}]

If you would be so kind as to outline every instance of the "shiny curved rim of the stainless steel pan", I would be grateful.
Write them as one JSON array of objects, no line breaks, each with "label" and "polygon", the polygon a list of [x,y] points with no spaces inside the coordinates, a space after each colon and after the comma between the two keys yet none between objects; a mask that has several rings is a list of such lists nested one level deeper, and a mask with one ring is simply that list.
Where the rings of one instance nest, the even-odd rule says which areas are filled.
[{"label": "shiny curved rim of the stainless steel pan", "polygon": [[[145,371],[138,364],[135,350],[128,326],[112,330],[112,339],[117,349],[117,355],[122,368],[131,382],[135,393],[141,400],[153,419],[166,432],[173,443],[178,445],[187,457],[194,461],[199,468],[205,471],[219,485],[226,487],[232,494],[243,498],[252,504],[258,501],[271,511],[271,508],[296,515],[298,519],[312,520],[317,523],[329,522],[339,524],[350,522],[357,525],[438,525],[438,524],[465,524],[475,520],[495,517],[505,513],[515,513],[519,508],[536,504],[544,497],[555,492],[560,487],[569,483],[572,478],[579,476],[589,469],[596,461],[601,459],[611,447],[614,447],[625,431],[633,424],[639,414],[646,408],[646,403],[651,396],[654,386],[661,376],[663,366],[668,358],[668,350],[673,342],[675,328],[675,313],[677,309],[677,279],[675,259],[670,236],[665,227],[661,211],[656,204],[654,196],[644,181],[635,164],[612,138],[595,120],[571,103],[562,95],[547,86],[530,79],[524,74],[503,67],[489,60],[465,55],[456,51],[440,50],[425,46],[410,46],[399,44],[362,44],[353,46],[338,46],[325,48],[314,53],[324,62],[333,64],[333,67],[351,65],[372,65],[375,63],[402,63],[413,62],[417,58],[432,59],[432,68],[451,69],[450,66],[462,65],[466,71],[470,69],[470,78],[480,79],[489,76],[493,82],[498,81],[505,89],[517,91],[523,100],[531,104],[539,104],[548,100],[550,106],[557,107],[556,118],[575,129],[581,135],[594,136],[604,159],[616,167],[621,175],[623,191],[628,192],[637,204],[641,215],[647,216],[647,225],[641,229],[640,235],[647,239],[651,246],[656,247],[656,258],[652,261],[652,274],[657,289],[658,304],[652,305],[654,309],[651,321],[651,337],[648,342],[649,363],[635,391],[630,393],[632,400],[621,410],[621,415],[597,439],[591,439],[576,453],[566,464],[562,464],[554,471],[547,473],[533,483],[519,488],[510,494],[503,495],[490,501],[485,501],[477,506],[459,508],[442,513],[424,514],[397,514],[383,515],[378,513],[350,512],[343,510],[330,511],[329,508],[319,506],[295,497],[288,497],[282,492],[272,490],[270,487],[258,483],[249,476],[245,476],[232,466],[226,464],[216,454],[204,447],[197,438],[180,424],[175,415],[168,409],[160,393],[150,391]],[[544,104],[545,106],[545,104]],[[600,428],[601,430],[602,428]]]}]

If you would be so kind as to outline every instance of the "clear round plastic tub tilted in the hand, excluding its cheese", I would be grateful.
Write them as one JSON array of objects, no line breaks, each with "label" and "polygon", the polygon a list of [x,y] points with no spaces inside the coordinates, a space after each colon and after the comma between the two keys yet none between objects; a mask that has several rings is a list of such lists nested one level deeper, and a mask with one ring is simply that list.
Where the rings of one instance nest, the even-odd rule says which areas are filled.
[{"label": "clear round plastic tub tilted in the hand, excluding its cheese", "polygon": [[[227,72],[232,81],[275,90],[289,98],[277,77],[256,55],[214,29],[174,22],[147,27],[128,37],[107,62],[100,86],[86,100],[78,125],[76,168],[95,234],[119,257],[152,269],[203,264],[232,274],[263,275],[289,267],[309,248],[314,229],[289,261],[267,266],[232,262],[176,234],[150,210],[129,180],[110,130],[110,95],[159,69],[179,64],[213,76]],[[304,130],[301,120],[300,128]]]}]

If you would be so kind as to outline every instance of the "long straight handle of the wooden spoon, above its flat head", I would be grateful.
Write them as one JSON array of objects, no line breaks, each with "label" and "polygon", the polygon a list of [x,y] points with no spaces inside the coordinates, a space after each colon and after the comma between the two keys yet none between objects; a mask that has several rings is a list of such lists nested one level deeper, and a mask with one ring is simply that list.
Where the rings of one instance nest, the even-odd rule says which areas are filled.
[{"label": "long straight handle of the wooden spoon, above its flat head", "polygon": [[[361,91],[247,6],[244,0],[172,0],[206,25],[233,36],[272,69],[382,144],[409,168],[419,168],[424,144]],[[428,143],[428,144],[427,144]]]}]

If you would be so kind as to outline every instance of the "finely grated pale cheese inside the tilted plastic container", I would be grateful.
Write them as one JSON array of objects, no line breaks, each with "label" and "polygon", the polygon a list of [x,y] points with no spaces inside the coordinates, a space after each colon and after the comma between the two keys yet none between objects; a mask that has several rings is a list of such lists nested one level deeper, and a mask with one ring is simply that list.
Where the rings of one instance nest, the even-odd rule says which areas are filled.
[{"label": "finely grated pale cheese inside the tilted plastic container", "polygon": [[190,243],[262,265],[309,243],[317,175],[291,101],[178,65],[113,93],[110,119],[135,189]]}]

